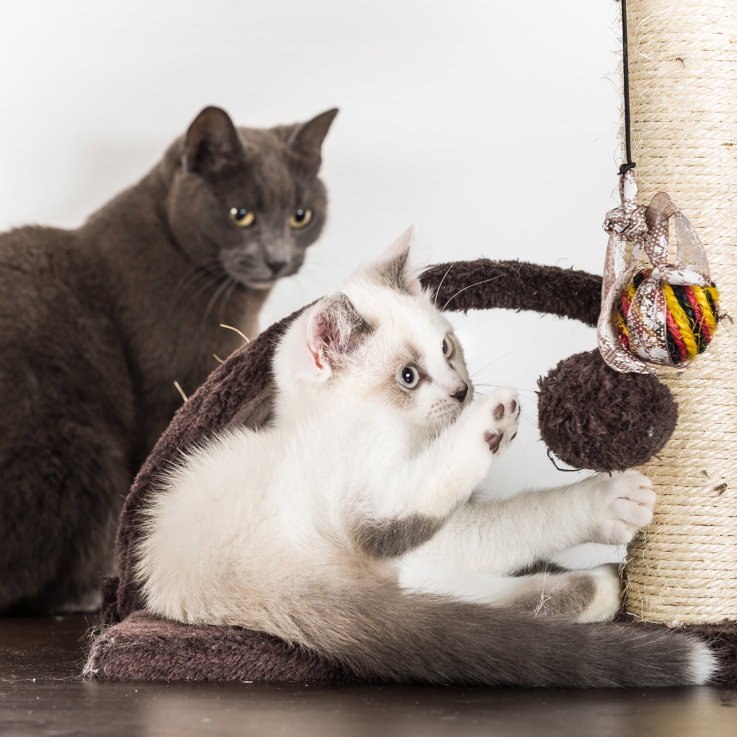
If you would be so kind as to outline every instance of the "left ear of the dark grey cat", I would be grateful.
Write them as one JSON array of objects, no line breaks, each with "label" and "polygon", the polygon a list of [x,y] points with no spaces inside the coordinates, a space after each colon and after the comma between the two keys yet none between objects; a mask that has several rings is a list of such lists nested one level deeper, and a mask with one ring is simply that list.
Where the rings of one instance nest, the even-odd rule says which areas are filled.
[{"label": "left ear of the dark grey cat", "polygon": [[243,147],[228,113],[212,106],[205,108],[184,137],[185,170],[208,177],[240,166],[242,161]]}]

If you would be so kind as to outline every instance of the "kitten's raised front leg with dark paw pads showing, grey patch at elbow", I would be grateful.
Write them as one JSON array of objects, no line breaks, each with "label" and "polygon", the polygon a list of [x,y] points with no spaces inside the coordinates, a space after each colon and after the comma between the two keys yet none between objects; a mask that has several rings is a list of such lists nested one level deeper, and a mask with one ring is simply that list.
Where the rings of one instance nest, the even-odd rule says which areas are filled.
[{"label": "kitten's raised front leg with dark paw pads showing, grey patch at elbow", "polygon": [[514,440],[519,415],[511,389],[469,405],[455,425],[408,458],[377,492],[370,517],[354,525],[354,542],[371,556],[394,557],[430,539]]}]

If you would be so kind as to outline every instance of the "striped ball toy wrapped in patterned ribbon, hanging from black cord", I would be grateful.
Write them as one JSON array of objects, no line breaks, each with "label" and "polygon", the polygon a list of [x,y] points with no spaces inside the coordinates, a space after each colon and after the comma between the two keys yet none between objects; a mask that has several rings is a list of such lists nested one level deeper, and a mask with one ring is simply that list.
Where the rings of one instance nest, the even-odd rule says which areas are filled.
[{"label": "striped ball toy wrapped in patterned ribbon, hanging from black cord", "polygon": [[[598,321],[601,356],[616,371],[684,368],[719,323],[719,292],[694,226],[665,192],[638,205],[633,169],[620,177],[622,204],[607,213],[607,260]],[[668,233],[674,219],[672,262]],[[629,247],[627,254],[627,243]],[[625,266],[626,263],[626,266]]]}]

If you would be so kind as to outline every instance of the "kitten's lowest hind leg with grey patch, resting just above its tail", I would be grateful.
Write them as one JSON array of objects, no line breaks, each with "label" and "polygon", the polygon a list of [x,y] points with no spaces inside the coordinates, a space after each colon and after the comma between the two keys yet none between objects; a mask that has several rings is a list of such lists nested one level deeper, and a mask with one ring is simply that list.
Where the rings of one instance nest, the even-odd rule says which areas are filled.
[{"label": "kitten's lowest hind leg with grey patch, resting just above its tail", "polygon": [[495,604],[534,614],[570,617],[577,622],[611,619],[622,604],[617,565],[563,573],[535,573],[509,579],[509,588]]}]

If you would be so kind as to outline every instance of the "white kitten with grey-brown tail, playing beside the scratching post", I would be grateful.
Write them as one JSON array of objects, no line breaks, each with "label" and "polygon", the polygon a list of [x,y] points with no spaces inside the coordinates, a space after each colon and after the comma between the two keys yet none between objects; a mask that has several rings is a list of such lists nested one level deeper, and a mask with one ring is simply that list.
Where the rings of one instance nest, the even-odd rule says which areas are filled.
[{"label": "white kitten with grey-brown tail, playing beside the scratching post", "polygon": [[[654,495],[625,472],[472,501],[520,408],[510,389],[471,401],[411,240],[293,322],[268,428],[223,433],[164,480],[138,551],[148,609],[269,632],[373,679],[703,682],[696,640],[574,624],[618,607],[609,570],[512,577],[578,542],[628,542]],[[401,565],[485,576],[478,599],[497,606],[402,590]],[[542,611],[570,616],[528,613]]]}]

